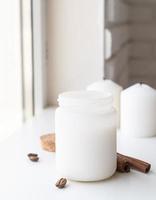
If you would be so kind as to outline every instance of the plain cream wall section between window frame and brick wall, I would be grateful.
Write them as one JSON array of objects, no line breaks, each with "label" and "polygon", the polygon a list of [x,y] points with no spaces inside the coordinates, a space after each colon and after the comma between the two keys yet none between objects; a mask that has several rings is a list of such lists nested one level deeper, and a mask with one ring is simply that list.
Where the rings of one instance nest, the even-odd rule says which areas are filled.
[{"label": "plain cream wall section between window frame and brick wall", "polygon": [[48,0],[48,104],[103,77],[103,0]]}]

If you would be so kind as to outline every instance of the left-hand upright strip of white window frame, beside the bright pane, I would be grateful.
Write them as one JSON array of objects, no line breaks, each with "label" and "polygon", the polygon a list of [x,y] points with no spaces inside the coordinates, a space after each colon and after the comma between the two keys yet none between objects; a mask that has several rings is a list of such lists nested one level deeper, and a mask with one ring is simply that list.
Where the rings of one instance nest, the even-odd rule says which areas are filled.
[{"label": "left-hand upright strip of white window frame, beside the bright pane", "polygon": [[20,1],[23,121],[34,115],[31,0]]}]

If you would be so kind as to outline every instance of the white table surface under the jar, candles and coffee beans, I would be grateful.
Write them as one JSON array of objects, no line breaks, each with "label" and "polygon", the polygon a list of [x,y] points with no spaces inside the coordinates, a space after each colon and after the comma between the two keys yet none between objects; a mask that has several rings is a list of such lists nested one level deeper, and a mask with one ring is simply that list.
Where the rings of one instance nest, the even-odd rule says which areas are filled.
[{"label": "white table surface under the jar, candles and coffee beans", "polygon": [[[1,200],[156,199],[156,138],[118,137],[118,152],[150,162],[152,169],[149,174],[131,171],[128,174],[116,173],[101,182],[68,181],[67,187],[59,190],[55,187],[59,177],[55,171],[55,153],[43,151],[39,140],[40,135],[53,131],[54,109],[47,109],[0,144]],[[40,162],[29,161],[29,152],[37,152]]]}]

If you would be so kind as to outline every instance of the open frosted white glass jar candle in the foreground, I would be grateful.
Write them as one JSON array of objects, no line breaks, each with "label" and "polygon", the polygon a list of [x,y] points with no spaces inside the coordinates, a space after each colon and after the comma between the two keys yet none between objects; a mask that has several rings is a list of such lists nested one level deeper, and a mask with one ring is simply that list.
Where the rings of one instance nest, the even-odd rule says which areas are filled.
[{"label": "open frosted white glass jar candle in the foreground", "polygon": [[59,95],[55,114],[56,169],[76,181],[98,181],[116,171],[116,111],[110,94]]}]

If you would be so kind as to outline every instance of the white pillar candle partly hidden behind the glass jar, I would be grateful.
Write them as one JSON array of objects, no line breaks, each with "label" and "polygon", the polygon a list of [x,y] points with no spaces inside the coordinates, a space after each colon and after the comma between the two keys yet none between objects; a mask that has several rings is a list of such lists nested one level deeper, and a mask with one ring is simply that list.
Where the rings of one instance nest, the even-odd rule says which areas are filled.
[{"label": "white pillar candle partly hidden behind the glass jar", "polygon": [[118,126],[120,124],[120,95],[122,87],[111,80],[101,80],[87,87],[87,90],[111,93],[113,95],[113,105],[118,113]]}]

